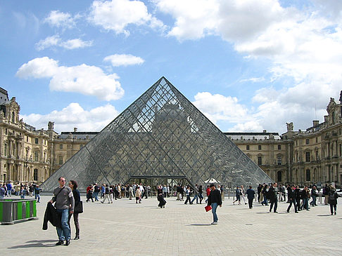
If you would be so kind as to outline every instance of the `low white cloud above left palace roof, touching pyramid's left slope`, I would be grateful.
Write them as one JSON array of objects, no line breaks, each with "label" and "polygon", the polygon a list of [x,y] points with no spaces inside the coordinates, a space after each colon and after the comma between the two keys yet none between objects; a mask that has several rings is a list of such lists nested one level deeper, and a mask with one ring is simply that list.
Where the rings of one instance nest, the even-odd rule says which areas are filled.
[{"label": "low white cloud above left palace roof, touching pyramid's left slope", "polygon": [[60,133],[61,131],[72,131],[74,127],[82,131],[99,131],[113,121],[118,114],[115,107],[110,104],[87,111],[78,103],[70,103],[67,107],[54,110],[49,114],[20,116],[25,123],[30,123],[37,129],[46,129],[47,123],[53,121],[55,122],[55,130]]}]

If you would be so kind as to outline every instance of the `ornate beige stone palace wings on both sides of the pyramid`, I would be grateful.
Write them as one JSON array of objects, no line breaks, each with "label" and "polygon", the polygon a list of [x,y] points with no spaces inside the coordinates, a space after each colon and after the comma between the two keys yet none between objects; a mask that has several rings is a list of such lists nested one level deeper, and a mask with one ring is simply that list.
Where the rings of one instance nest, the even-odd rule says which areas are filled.
[{"label": "ornate beige stone palace wings on both sides of the pyramid", "polygon": [[[340,99],[341,100],[341,99]],[[0,88],[0,182],[41,184],[98,132],[56,133],[19,119],[15,97]],[[312,121],[306,130],[286,123],[284,134],[224,133],[274,181],[284,184],[342,182],[342,102],[330,99],[324,122]],[[95,182],[95,181],[94,181]]]}]

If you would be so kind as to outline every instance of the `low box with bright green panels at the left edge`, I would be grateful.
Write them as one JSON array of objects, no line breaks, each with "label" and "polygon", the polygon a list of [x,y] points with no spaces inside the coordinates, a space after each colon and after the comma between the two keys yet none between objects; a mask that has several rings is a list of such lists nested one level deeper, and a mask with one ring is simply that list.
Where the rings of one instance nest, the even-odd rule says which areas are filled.
[{"label": "low box with bright green panels at the left edge", "polygon": [[38,220],[36,199],[0,199],[0,222],[11,225],[27,220]]}]

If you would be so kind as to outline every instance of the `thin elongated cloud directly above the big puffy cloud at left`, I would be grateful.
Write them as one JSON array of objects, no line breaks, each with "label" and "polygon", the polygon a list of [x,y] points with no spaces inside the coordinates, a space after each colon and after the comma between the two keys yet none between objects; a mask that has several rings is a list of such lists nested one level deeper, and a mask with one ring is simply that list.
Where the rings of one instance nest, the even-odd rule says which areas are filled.
[{"label": "thin elongated cloud directly above the big puffy cloud at left", "polygon": [[85,48],[93,45],[93,41],[83,41],[82,39],[70,39],[67,41],[63,41],[60,36],[53,35],[48,36],[46,39],[40,40],[36,43],[37,50],[44,50],[45,48],[50,47],[62,47],[68,50],[77,49],[77,48]]}]

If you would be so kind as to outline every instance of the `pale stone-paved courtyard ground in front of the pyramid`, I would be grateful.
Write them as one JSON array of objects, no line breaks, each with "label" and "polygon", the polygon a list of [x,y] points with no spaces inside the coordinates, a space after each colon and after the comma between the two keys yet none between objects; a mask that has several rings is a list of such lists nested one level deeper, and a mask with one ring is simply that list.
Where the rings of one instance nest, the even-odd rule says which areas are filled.
[{"label": "pale stone-paved courtyard ground in front of the pyramid", "polygon": [[3,255],[342,255],[341,198],[334,216],[320,204],[295,214],[285,212],[287,203],[279,203],[279,213],[269,213],[259,203],[250,210],[226,198],[216,226],[210,225],[213,215],[205,213],[203,204],[185,206],[174,197],[166,198],[163,209],[156,197],[141,204],[128,199],[85,203],[82,198],[81,239],[68,247],[55,245],[51,224],[42,230],[50,198],[42,196],[39,220],[0,226]]}]

